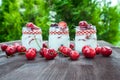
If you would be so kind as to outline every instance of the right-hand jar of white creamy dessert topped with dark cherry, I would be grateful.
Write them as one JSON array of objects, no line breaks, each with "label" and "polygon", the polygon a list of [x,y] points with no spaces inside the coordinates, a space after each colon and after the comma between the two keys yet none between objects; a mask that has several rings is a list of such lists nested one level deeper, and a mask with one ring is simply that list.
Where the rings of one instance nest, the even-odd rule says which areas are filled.
[{"label": "right-hand jar of white creamy dessert topped with dark cherry", "polygon": [[82,48],[88,45],[92,48],[97,47],[96,27],[86,21],[80,21],[75,28],[75,50],[81,53]]}]

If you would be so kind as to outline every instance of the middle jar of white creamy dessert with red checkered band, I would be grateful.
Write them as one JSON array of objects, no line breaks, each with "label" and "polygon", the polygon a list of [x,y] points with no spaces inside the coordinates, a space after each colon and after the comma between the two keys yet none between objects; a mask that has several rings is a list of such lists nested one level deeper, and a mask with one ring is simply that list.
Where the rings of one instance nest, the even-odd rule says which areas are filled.
[{"label": "middle jar of white creamy dessert with red checkered band", "polygon": [[67,23],[64,21],[53,23],[49,28],[49,48],[58,50],[61,45],[66,47],[70,45],[69,29]]}]

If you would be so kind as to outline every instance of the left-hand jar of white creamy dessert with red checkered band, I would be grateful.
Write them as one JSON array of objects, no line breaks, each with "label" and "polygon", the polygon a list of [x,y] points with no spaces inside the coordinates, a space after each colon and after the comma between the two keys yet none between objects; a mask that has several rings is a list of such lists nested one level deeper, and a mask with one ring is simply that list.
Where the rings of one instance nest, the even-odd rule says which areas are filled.
[{"label": "left-hand jar of white creamy dessert with red checkered band", "polygon": [[35,48],[39,51],[42,48],[42,31],[39,27],[29,22],[22,28],[22,45],[29,48]]}]

